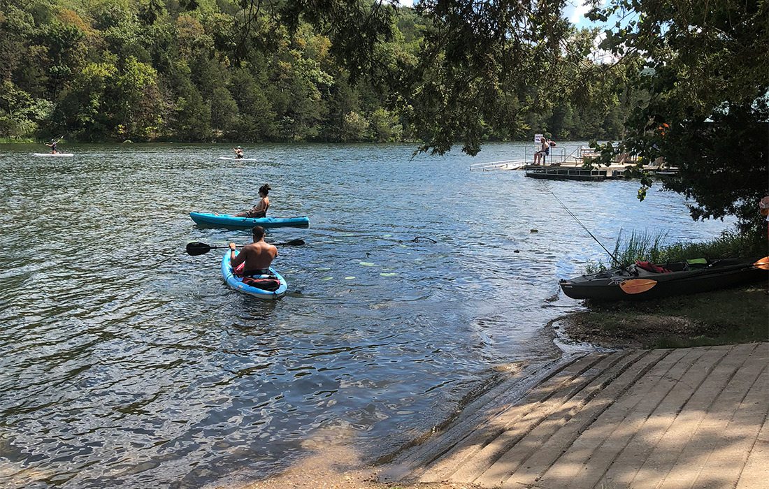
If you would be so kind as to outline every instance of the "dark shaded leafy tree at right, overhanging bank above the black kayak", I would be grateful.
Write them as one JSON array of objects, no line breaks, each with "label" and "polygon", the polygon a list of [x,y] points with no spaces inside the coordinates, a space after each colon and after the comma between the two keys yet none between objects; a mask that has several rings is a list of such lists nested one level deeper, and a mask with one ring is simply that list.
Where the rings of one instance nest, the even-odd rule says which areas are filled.
[{"label": "dark shaded leafy tree at right, overhanging bank above the black kayak", "polygon": [[[769,192],[769,4],[612,0],[591,15],[618,18],[601,48],[647,93],[606,157],[664,158],[680,168],[664,188],[693,199],[693,218],[757,224],[757,201]],[[643,183],[641,198],[651,181]]]}]

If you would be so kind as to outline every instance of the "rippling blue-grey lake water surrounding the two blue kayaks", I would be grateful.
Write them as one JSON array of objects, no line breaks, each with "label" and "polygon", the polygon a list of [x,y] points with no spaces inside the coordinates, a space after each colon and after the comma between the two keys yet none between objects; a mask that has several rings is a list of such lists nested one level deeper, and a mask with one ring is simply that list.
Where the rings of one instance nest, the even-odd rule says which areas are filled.
[{"label": "rippling blue-grey lake water surrounding the two blue kayaks", "polygon": [[[580,307],[558,279],[605,253],[554,195],[609,249],[729,227],[656,187],[639,202],[637,181],[469,171],[530,147],[0,146],[0,485],[200,487],[318,443],[387,454],[495,368],[558,355],[544,327]],[[263,183],[271,216],[311,223],[269,231],[306,241],[280,248],[277,302],[225,287],[222,250],[185,254],[250,241],[188,212],[245,210]]]}]

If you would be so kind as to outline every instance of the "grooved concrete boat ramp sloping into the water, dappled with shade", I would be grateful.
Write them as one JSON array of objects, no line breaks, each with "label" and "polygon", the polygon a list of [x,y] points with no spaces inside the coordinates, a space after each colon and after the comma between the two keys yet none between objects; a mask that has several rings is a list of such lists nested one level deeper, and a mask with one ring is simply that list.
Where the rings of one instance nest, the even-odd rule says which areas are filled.
[{"label": "grooved concrete boat ramp sloping into the water, dappled with shade", "polygon": [[577,354],[528,386],[536,375],[527,370],[404,451],[380,480],[548,489],[769,484],[769,343]]}]

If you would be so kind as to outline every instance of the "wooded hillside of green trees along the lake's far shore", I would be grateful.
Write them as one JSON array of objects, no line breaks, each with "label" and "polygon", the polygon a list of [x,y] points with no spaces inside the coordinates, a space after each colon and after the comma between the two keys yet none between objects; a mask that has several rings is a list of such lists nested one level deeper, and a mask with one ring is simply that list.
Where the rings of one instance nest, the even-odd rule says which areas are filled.
[{"label": "wooded hillside of green trees along the lake's far shore", "polygon": [[[390,62],[353,83],[328,37],[301,18],[287,26],[255,15],[253,2],[2,2],[0,138],[419,141],[414,111],[429,108],[403,103],[393,84],[422,61],[430,21],[393,12],[377,46]],[[532,89],[525,100],[510,90],[513,129],[495,121],[481,140],[621,137],[627,98],[538,99]]]}]

